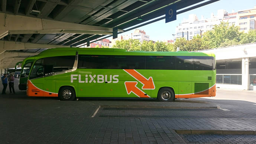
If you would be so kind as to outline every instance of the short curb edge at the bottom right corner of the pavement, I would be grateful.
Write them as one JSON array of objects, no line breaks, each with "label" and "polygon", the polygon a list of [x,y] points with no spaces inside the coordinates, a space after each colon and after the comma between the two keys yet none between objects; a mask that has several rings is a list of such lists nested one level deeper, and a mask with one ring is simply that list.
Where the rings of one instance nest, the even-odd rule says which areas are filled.
[{"label": "short curb edge at the bottom right corner of the pavement", "polygon": [[256,130],[175,130],[177,134],[256,134]]}]

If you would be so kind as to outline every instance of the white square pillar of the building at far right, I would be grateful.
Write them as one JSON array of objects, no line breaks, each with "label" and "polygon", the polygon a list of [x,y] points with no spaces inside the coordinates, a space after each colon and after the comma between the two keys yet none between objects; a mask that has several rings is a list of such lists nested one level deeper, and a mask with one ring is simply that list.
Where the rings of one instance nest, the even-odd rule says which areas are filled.
[{"label": "white square pillar of the building at far right", "polygon": [[242,87],[249,90],[249,58],[242,59]]}]

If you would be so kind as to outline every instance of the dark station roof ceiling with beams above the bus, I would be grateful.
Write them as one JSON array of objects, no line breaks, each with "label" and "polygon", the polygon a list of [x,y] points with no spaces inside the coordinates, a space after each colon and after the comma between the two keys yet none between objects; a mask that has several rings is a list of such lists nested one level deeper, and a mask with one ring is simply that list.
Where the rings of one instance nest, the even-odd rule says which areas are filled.
[{"label": "dark station roof ceiling with beams above the bus", "polygon": [[180,10],[202,1],[218,0],[0,0],[0,54],[78,46],[162,16],[169,4]]}]

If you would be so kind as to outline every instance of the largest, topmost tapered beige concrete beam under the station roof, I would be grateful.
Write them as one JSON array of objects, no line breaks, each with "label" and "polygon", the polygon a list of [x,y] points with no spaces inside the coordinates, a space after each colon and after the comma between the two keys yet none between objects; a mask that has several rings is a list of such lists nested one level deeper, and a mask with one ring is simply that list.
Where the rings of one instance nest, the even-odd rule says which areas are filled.
[{"label": "largest, topmost tapered beige concrete beam under the station roof", "polygon": [[[0,30],[0,39],[6,36],[6,34],[86,33],[111,35],[113,33],[113,29],[108,27],[60,22],[5,13],[0,13]],[[118,31],[123,32],[121,29]]]}]

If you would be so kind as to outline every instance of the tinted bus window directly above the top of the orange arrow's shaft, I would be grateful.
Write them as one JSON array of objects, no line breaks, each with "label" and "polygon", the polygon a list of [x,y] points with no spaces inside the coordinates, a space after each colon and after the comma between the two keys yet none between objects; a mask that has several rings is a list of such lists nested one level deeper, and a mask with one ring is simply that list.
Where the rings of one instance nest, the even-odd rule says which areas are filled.
[{"label": "tinted bus window directly above the top of the orange arrow's shaft", "polygon": [[145,69],[145,56],[112,56],[111,69]]}]

